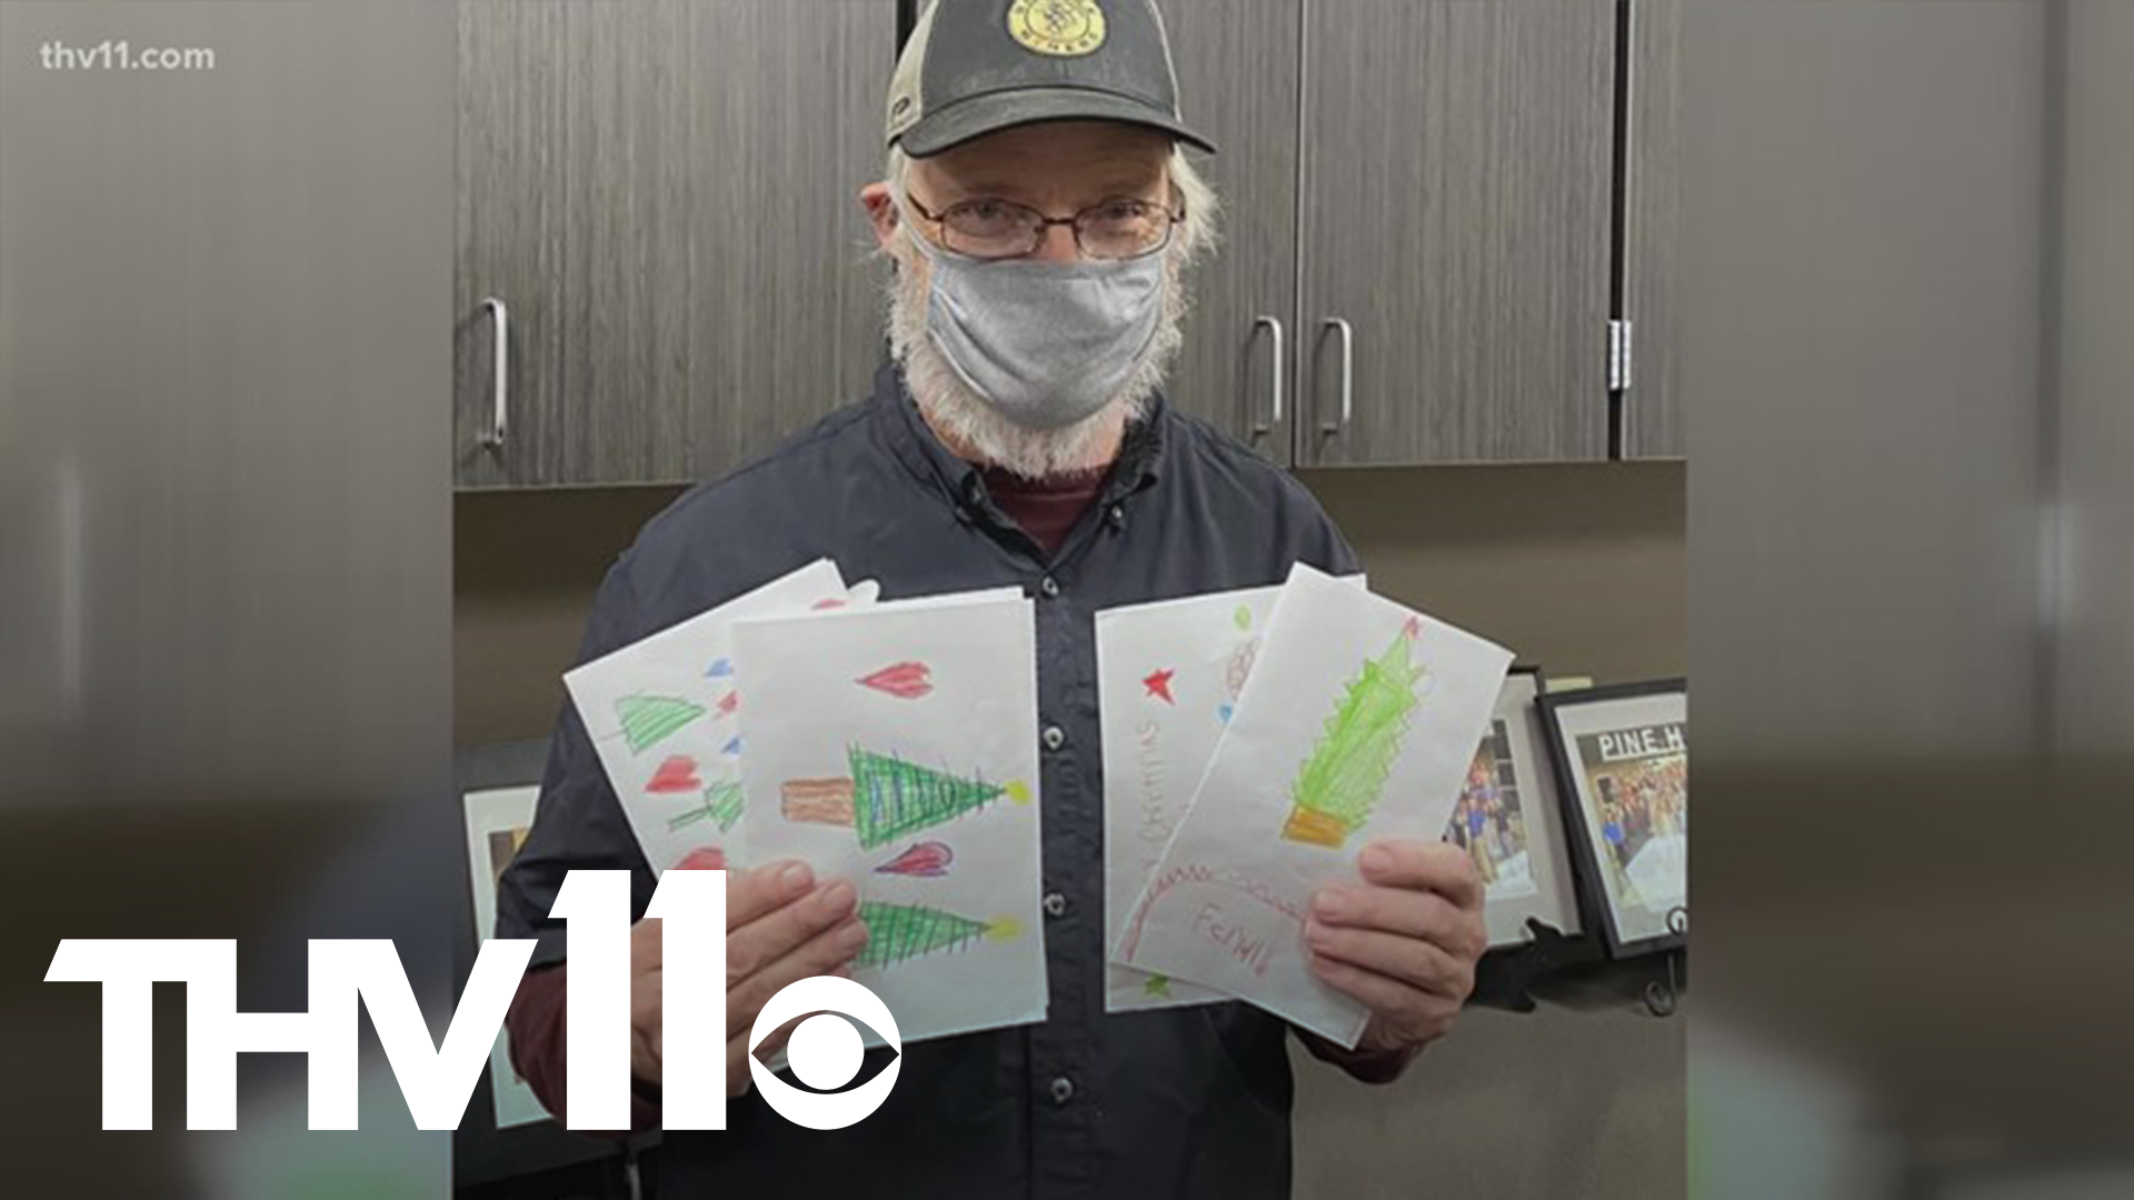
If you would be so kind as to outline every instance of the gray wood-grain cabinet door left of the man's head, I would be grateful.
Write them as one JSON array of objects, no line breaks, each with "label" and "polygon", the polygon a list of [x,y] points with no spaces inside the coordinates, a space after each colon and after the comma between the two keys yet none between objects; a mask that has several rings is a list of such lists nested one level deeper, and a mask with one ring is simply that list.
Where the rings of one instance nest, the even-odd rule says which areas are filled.
[{"label": "gray wood-grain cabinet door left of the man's head", "polygon": [[[689,483],[864,395],[894,4],[461,0],[461,487]],[[493,438],[508,314],[506,436]]]}]

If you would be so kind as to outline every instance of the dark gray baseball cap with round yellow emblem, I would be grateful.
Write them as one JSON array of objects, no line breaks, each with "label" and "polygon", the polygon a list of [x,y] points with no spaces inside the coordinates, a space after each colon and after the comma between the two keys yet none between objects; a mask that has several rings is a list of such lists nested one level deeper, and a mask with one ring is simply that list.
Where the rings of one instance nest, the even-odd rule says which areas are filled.
[{"label": "dark gray baseball cap with round yellow emblem", "polygon": [[1178,115],[1152,0],[935,0],[890,81],[890,145],[911,158],[1058,120],[1148,126],[1214,154]]}]

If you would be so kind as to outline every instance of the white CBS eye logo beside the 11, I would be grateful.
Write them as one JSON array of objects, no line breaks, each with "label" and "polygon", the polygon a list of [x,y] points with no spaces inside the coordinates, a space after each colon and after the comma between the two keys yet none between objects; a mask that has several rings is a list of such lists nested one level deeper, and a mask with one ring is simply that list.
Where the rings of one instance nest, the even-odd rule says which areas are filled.
[{"label": "white CBS eye logo beside the 11", "polygon": [[[839,1016],[841,1012],[858,1016],[881,1033],[881,1040],[896,1051],[896,1057],[890,1059],[890,1065],[881,1068],[881,1074],[851,1091],[800,1091],[770,1074],[770,1068],[755,1057],[755,1048],[764,1044],[764,1038],[773,1029],[802,1012],[813,1012],[815,1016],[794,1027],[792,1038],[785,1042],[785,1059],[794,1076],[809,1087],[845,1087],[851,1083],[851,1076],[860,1074],[860,1055],[864,1053],[860,1031],[851,1021]],[[785,984],[755,1014],[755,1027],[749,1029],[749,1074],[755,1076],[755,1093],[779,1117],[809,1130],[843,1130],[845,1125],[864,1121],[890,1098],[890,1089],[896,1087],[896,1068],[903,1063],[905,1044],[896,1033],[896,1019],[890,1016],[890,1006],[881,1004],[881,997],[869,991],[866,984],[839,976],[815,976]]]}]

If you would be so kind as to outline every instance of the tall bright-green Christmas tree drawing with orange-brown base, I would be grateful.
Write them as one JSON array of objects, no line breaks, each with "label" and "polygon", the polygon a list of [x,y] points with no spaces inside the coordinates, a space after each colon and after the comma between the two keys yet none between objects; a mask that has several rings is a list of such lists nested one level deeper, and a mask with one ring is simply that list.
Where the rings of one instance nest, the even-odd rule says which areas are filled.
[{"label": "tall bright-green Christmas tree drawing with orange-brown base", "polygon": [[1423,668],[1408,664],[1408,630],[1394,636],[1376,660],[1349,681],[1319,745],[1289,786],[1289,820],[1283,837],[1340,850],[1351,833],[1370,820],[1385,790],[1400,743],[1415,713],[1415,683]]}]

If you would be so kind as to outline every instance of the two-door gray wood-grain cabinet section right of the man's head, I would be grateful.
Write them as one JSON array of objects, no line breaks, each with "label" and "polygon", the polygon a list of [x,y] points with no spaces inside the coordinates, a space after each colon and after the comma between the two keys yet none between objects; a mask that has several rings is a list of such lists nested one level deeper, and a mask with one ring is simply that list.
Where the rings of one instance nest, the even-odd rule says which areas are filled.
[{"label": "two-door gray wood-grain cabinet section right of the man's head", "polygon": [[[1637,307],[1667,303],[1665,271],[1615,260],[1615,4],[1167,0],[1165,15],[1227,207],[1193,284],[1182,408],[1295,465],[1609,457],[1622,275]],[[1667,36],[1654,23],[1647,45]],[[1656,252],[1669,216],[1637,226]]]}]

